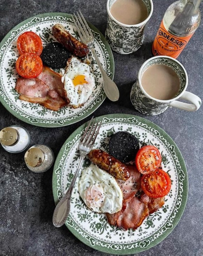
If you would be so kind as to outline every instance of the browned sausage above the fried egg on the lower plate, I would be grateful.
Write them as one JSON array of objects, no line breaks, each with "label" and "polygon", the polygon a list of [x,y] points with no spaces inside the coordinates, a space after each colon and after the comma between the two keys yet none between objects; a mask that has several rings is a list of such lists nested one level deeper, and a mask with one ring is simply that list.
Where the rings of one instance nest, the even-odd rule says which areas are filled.
[{"label": "browned sausage above the fried egg on the lower plate", "polygon": [[128,180],[130,178],[130,170],[128,167],[100,149],[92,149],[88,154],[89,160],[99,166],[99,168],[109,172],[120,180]]}]

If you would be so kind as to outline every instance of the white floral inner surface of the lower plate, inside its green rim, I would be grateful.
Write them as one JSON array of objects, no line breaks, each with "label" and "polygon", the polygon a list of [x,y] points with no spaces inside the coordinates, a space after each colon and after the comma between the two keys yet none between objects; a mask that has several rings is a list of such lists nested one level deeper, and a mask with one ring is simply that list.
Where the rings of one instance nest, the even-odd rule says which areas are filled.
[{"label": "white floral inner surface of the lower plate, inside its green rim", "polygon": [[[118,130],[126,130],[128,132],[132,132],[133,128],[134,128],[134,124],[125,124],[125,123],[120,123],[120,125],[118,126],[117,123],[114,123],[113,124],[114,126],[112,126],[112,128],[110,128],[111,126],[111,123],[105,123],[105,124],[102,124],[101,128],[100,128],[100,131],[99,131],[99,140],[100,142],[96,142],[95,143],[95,146],[98,147],[98,143],[99,143],[99,148],[104,150],[104,151],[107,151],[108,152],[108,141],[110,139],[110,136],[111,134],[113,134],[114,132],[118,131]],[[124,128],[125,126],[125,128]],[[127,127],[128,126],[128,127]],[[110,129],[108,129],[108,128]],[[118,130],[116,129],[116,127],[118,128]],[[139,136],[140,137],[140,144],[141,145],[145,145],[146,143],[151,143],[152,145],[155,145],[154,144],[154,139],[157,139],[156,136],[154,136],[154,134],[152,134],[151,132],[148,132],[148,130],[146,130],[145,128],[141,128],[141,127],[138,127],[136,126],[136,130],[137,128],[139,128],[139,130],[141,130],[142,132],[139,132],[139,133],[133,133],[135,136]],[[82,136],[82,132],[80,132],[80,136],[79,138],[77,138],[77,140],[75,140],[75,143],[74,145],[72,145],[71,149],[67,152],[66,154],[66,159],[65,159],[65,162],[63,163],[63,171],[61,173],[61,181],[60,181],[60,184],[61,184],[61,187],[58,187],[58,189],[61,191],[61,188],[62,188],[62,194],[64,195],[65,194],[65,190],[67,189],[67,187],[69,186],[70,182],[71,182],[71,179],[72,179],[72,176],[73,176],[73,170],[76,168],[75,167],[75,161],[76,161],[76,165],[77,165],[77,161],[78,161],[78,157],[79,157],[79,152],[77,150],[77,145],[79,143],[79,140],[80,140],[80,137]],[[142,133],[142,135],[141,135]],[[149,133],[149,136],[150,136],[150,140],[149,140],[149,137],[147,135],[147,133]],[[153,136],[153,138],[151,138],[151,136]],[[105,140],[104,140],[105,138]],[[147,140],[148,138],[148,140]],[[160,147],[159,144],[156,145],[157,147]],[[162,145],[163,146],[163,145]],[[165,147],[165,146],[164,146]],[[74,157],[72,158],[72,153],[74,155]],[[71,163],[71,160],[70,159],[73,159],[73,162]],[[169,162],[168,162],[169,161]],[[172,156],[169,154],[168,152],[168,155],[166,157],[165,155],[165,160],[162,158],[162,163],[164,165],[164,168],[166,168],[166,166],[168,167],[168,170],[166,170],[167,172],[171,171],[172,169],[172,166],[174,168],[174,171],[176,170],[176,166],[175,166],[175,163],[174,163],[174,160],[172,158]],[[170,163],[170,166],[168,165]],[[89,161],[86,159],[86,161],[83,163],[83,168],[89,166]],[[69,175],[67,175],[67,172],[69,173]],[[170,173],[169,173],[170,174]],[[172,194],[173,194],[173,200],[172,200],[172,203],[171,203],[171,206],[170,206],[170,209],[168,208],[168,205],[167,203],[165,204],[164,207],[162,207],[162,211],[164,213],[167,212],[167,216],[163,216],[160,211],[157,211],[155,214],[153,214],[152,216],[149,216],[145,221],[144,223],[141,225],[140,228],[138,228],[135,232],[132,231],[132,230],[128,230],[128,234],[126,234],[126,232],[123,232],[123,230],[119,229],[119,228],[115,228],[115,227],[111,227],[107,221],[106,221],[106,217],[105,215],[100,215],[100,218],[99,216],[97,216],[97,214],[92,214],[89,213],[89,211],[87,212],[87,208],[85,206],[85,204],[83,203],[83,201],[81,201],[80,197],[79,197],[79,193],[78,193],[78,190],[77,190],[77,187],[78,187],[78,179],[76,180],[76,183],[75,183],[75,188],[73,190],[73,197],[71,199],[71,213],[70,213],[70,216],[71,218],[75,221],[75,223],[77,223],[80,228],[84,231],[86,231],[88,234],[94,236],[95,239],[99,239],[99,240],[102,240],[103,242],[109,242],[108,239],[109,238],[112,238],[113,236],[120,236],[120,239],[121,239],[121,236],[123,238],[123,240],[115,240],[114,239],[114,242],[112,240],[112,242],[114,244],[122,244],[122,243],[126,243],[125,241],[125,236],[128,235],[128,236],[134,236],[135,233],[137,233],[135,236],[134,236],[134,240],[131,240],[130,243],[133,243],[133,242],[136,242],[136,241],[140,241],[140,240],[143,240],[144,238],[146,237],[149,237],[150,235],[154,234],[157,230],[160,229],[160,227],[163,226],[163,224],[168,220],[168,217],[171,215],[173,209],[174,209],[174,205],[175,205],[175,202],[176,202],[176,198],[177,198],[177,193],[178,193],[178,190],[177,190],[177,185],[178,185],[178,175],[175,171],[174,173],[175,177],[173,177],[173,181],[172,181],[172,184],[176,184],[176,189],[173,190],[173,193],[172,191],[169,193],[171,194],[171,197],[172,197]],[[67,178],[68,177],[68,178]],[[65,185],[66,184],[66,185]],[[64,186],[65,185],[65,186]],[[61,194],[61,197],[62,197],[62,194]],[[75,198],[76,197],[76,198]],[[170,197],[170,196],[169,196]],[[170,197],[170,198],[171,198]],[[166,199],[166,201],[168,201],[168,199]],[[74,205],[74,208],[72,209],[72,206]],[[75,207],[77,208],[77,213],[80,212],[79,216],[77,216],[77,213],[75,211]],[[165,209],[164,209],[165,208]],[[80,211],[78,211],[78,209]],[[83,209],[85,209],[83,211]],[[167,210],[169,209],[169,210]],[[75,215],[76,214],[76,215]],[[159,216],[159,217],[158,217]],[[162,216],[164,218],[162,218]],[[93,219],[94,218],[94,222],[93,222]],[[156,228],[153,230],[151,230],[150,232],[147,232],[146,235],[144,235],[143,232],[143,229],[146,230],[148,229],[150,226],[154,226],[154,221],[156,221],[157,219],[160,220],[162,219],[162,222],[159,222],[158,226],[156,225]],[[153,220],[153,221],[152,221]],[[90,227],[86,226],[86,221],[88,223],[90,223]],[[96,224],[96,222],[97,224]],[[158,220],[159,221],[159,220]],[[149,224],[149,225],[148,225]],[[97,228],[97,230],[99,229],[99,231],[97,231],[97,233],[100,232],[100,234],[97,235],[97,233],[95,234],[95,230],[94,228]],[[107,231],[107,234],[105,233],[104,234],[104,230]],[[116,234],[117,233],[117,234]],[[138,235],[139,233],[139,235]],[[145,231],[146,233],[146,231]],[[101,234],[102,237],[100,236]],[[138,238],[138,236],[142,236],[142,238]],[[107,238],[107,239],[106,239]],[[129,241],[128,241],[129,243]]]}]

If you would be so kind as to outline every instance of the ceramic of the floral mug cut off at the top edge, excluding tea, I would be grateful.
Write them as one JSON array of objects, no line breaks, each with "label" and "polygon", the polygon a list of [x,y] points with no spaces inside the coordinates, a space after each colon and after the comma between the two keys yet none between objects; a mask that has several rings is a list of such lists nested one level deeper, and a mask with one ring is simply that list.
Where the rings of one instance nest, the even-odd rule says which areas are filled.
[{"label": "ceramic of the floral mug cut off at the top edge, excluding tea", "polygon": [[105,37],[113,51],[122,54],[133,53],[140,48],[144,41],[144,28],[153,12],[152,0],[143,0],[147,6],[148,17],[135,25],[123,24],[112,16],[110,9],[115,1],[107,1],[108,20]]}]

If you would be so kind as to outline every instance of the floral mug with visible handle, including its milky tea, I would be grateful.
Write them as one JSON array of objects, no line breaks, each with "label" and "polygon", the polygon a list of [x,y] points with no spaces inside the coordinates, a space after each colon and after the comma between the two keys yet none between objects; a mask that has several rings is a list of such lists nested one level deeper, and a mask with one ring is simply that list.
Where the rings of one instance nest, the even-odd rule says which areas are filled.
[{"label": "floral mug with visible handle, including its milky tea", "polygon": [[196,111],[202,101],[197,95],[186,91],[187,86],[187,72],[179,61],[169,56],[156,56],[142,64],[130,99],[134,108],[144,115],[158,115],[168,107]]}]

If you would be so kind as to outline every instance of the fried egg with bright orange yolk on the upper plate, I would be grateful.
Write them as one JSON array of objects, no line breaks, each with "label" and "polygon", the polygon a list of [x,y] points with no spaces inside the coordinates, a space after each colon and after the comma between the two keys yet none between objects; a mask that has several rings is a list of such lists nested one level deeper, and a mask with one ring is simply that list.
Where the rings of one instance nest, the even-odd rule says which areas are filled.
[{"label": "fried egg with bright orange yolk on the upper plate", "polygon": [[61,79],[67,101],[73,108],[82,106],[91,96],[95,87],[94,76],[90,67],[76,57],[67,62],[65,74]]}]

